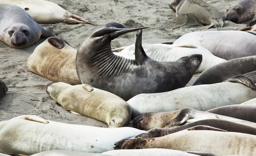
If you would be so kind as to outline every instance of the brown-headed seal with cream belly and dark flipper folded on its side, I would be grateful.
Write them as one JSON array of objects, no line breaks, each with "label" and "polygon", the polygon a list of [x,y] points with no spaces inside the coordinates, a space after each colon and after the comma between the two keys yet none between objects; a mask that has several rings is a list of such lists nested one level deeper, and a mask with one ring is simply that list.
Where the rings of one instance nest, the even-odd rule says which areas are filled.
[{"label": "brown-headed seal with cream belly and dark flipper folded on its side", "polygon": [[180,124],[189,124],[191,122],[204,119],[221,119],[232,121],[238,124],[247,125],[256,128],[256,123],[244,121],[229,116],[221,116],[214,113],[194,110],[192,108],[182,107],[179,110],[170,112],[148,112],[137,116],[131,121],[133,127],[140,130],[151,130],[152,128],[169,128]]}]

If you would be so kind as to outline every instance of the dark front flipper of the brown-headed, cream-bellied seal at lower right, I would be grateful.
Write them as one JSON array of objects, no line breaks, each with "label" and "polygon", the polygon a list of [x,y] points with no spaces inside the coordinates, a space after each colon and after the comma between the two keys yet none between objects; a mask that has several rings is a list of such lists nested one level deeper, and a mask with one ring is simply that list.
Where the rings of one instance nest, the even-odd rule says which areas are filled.
[{"label": "dark front flipper of the brown-headed, cream-bellied seal at lower right", "polygon": [[187,120],[192,119],[193,116],[190,111],[191,111],[191,108],[187,108],[187,107],[180,108],[177,116],[172,120],[170,120],[169,122],[167,122],[164,127],[168,128],[168,127],[178,126],[180,124],[183,124]]}]

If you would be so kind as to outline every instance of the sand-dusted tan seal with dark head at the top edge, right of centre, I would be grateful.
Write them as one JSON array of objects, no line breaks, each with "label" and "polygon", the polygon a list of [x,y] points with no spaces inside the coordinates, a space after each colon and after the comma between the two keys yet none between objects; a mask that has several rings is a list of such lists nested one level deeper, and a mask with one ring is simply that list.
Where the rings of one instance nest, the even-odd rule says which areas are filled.
[{"label": "sand-dusted tan seal with dark head at the top edge, right of centre", "polygon": [[209,25],[208,28],[219,28],[224,24],[218,9],[203,0],[174,0],[169,7],[176,11],[176,17],[193,14],[204,26]]}]

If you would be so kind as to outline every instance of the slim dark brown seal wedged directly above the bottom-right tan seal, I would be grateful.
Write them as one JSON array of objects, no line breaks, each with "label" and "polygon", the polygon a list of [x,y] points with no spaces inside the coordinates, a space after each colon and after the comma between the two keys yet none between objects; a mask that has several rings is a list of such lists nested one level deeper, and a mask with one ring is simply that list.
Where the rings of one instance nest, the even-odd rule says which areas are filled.
[{"label": "slim dark brown seal wedged directly above the bottom-right tan seal", "polygon": [[201,129],[208,129],[210,127],[219,128],[222,130],[227,130],[228,132],[237,132],[237,133],[246,133],[251,135],[256,135],[256,128],[246,126],[244,124],[237,124],[231,121],[220,120],[220,119],[206,119],[195,121],[189,124],[180,125],[178,127],[169,127],[169,128],[152,128],[148,130],[146,133],[141,133],[138,137],[148,137],[148,138],[156,138],[161,136],[166,136],[168,134],[172,134],[175,132],[179,132],[181,130],[185,130],[191,127],[201,127]]}]

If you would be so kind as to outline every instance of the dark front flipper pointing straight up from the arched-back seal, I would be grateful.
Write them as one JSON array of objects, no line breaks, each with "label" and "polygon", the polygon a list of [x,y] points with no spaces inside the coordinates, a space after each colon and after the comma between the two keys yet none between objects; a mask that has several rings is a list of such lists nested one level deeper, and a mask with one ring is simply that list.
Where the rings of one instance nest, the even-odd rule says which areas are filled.
[{"label": "dark front flipper pointing straight up from the arched-back seal", "polygon": [[136,35],[136,42],[135,42],[135,62],[137,65],[142,65],[146,60],[151,59],[149,58],[143,47],[142,47],[142,30],[138,30]]}]

